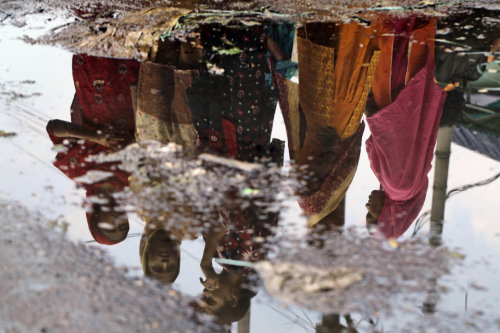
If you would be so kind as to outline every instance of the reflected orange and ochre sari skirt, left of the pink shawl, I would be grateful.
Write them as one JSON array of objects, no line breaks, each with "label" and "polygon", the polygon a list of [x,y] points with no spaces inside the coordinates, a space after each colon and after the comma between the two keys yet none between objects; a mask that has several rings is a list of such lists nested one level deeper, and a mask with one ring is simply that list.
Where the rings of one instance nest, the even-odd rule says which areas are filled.
[{"label": "reflected orange and ochre sari skirt, left of the pink shawl", "polygon": [[308,126],[331,126],[341,140],[357,132],[379,58],[373,33],[358,23],[298,29],[299,101]]}]

